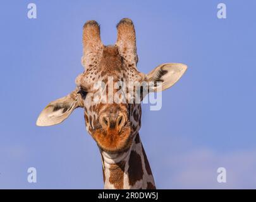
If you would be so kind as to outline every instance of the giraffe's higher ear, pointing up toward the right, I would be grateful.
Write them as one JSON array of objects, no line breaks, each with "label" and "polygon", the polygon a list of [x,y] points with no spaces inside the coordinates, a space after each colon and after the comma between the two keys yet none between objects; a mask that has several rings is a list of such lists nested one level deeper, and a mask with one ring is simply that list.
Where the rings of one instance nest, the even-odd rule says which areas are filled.
[{"label": "giraffe's higher ear, pointing up toward the right", "polygon": [[160,92],[170,88],[174,85],[174,83],[180,80],[186,69],[186,64],[181,63],[166,63],[157,66],[149,74],[147,74],[147,80],[152,81],[152,84],[161,82],[161,85],[152,85],[150,91]]}]

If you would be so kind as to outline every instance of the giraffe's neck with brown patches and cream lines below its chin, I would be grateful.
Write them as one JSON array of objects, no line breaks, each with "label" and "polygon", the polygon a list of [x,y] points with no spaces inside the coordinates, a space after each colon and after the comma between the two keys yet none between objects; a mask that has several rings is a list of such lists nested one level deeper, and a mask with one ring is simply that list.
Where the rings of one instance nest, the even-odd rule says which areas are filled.
[{"label": "giraffe's neck with brown patches and cream lines below its chin", "polygon": [[104,189],[155,189],[139,134],[128,151],[119,154],[101,151],[101,156]]}]

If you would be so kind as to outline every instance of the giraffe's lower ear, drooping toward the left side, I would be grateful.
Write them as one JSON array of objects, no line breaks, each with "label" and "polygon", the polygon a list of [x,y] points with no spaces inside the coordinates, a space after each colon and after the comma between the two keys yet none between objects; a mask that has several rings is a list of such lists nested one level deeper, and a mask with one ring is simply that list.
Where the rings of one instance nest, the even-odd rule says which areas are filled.
[{"label": "giraffe's lower ear, drooping toward the left side", "polygon": [[80,107],[75,91],[69,95],[50,102],[37,118],[37,126],[52,126],[63,122],[74,109]]}]

